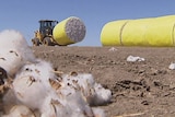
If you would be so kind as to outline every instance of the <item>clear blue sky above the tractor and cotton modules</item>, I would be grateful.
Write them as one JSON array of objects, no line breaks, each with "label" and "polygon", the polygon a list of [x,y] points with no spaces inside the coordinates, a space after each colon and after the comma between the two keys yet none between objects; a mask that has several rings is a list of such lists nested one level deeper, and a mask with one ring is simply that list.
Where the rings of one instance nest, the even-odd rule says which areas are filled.
[{"label": "clear blue sky above the tractor and cotton modules", "polygon": [[85,38],[74,46],[101,46],[101,31],[110,21],[175,14],[175,0],[1,0],[0,31],[18,30],[28,44],[39,20],[80,17]]}]

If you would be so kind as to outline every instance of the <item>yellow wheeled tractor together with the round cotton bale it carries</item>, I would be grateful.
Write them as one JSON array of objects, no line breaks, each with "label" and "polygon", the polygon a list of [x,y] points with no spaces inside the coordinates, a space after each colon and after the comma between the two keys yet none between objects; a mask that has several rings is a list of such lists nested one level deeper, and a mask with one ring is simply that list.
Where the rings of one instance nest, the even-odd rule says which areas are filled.
[{"label": "yellow wheeled tractor together with the round cotton bale it carries", "polygon": [[32,38],[33,46],[67,46],[79,43],[85,37],[85,25],[77,16],[70,16],[59,23],[52,20],[40,20],[39,24],[39,30]]}]

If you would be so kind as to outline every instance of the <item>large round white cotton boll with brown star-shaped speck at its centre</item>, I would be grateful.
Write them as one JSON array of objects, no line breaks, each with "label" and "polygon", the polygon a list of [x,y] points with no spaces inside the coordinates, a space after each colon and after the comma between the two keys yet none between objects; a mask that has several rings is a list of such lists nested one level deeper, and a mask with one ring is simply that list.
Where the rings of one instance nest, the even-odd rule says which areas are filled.
[{"label": "large round white cotton boll with brown star-shaped speck at its centre", "polygon": [[54,79],[55,74],[51,70],[51,65],[44,60],[25,65],[13,81],[18,100],[32,109],[40,108],[52,90],[49,79]]}]

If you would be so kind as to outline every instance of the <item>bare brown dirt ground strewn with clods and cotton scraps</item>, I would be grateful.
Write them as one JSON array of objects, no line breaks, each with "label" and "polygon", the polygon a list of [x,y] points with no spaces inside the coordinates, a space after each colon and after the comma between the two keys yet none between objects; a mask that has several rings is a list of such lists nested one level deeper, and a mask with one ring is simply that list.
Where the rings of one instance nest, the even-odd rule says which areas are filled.
[{"label": "bare brown dirt ground strewn with clods and cotton scraps", "polygon": [[[36,57],[63,72],[92,73],[113,92],[107,117],[175,117],[175,48],[33,47]],[[128,62],[128,56],[145,61]]]}]

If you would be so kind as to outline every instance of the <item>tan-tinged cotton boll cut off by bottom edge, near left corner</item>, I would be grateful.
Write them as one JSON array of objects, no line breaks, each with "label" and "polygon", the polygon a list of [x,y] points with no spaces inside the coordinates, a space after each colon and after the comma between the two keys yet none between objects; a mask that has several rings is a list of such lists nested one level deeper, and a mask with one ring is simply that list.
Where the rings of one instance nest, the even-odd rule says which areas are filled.
[{"label": "tan-tinged cotton boll cut off by bottom edge, near left corner", "polygon": [[3,115],[2,117],[36,117],[34,113],[24,105],[13,106],[10,114]]}]

